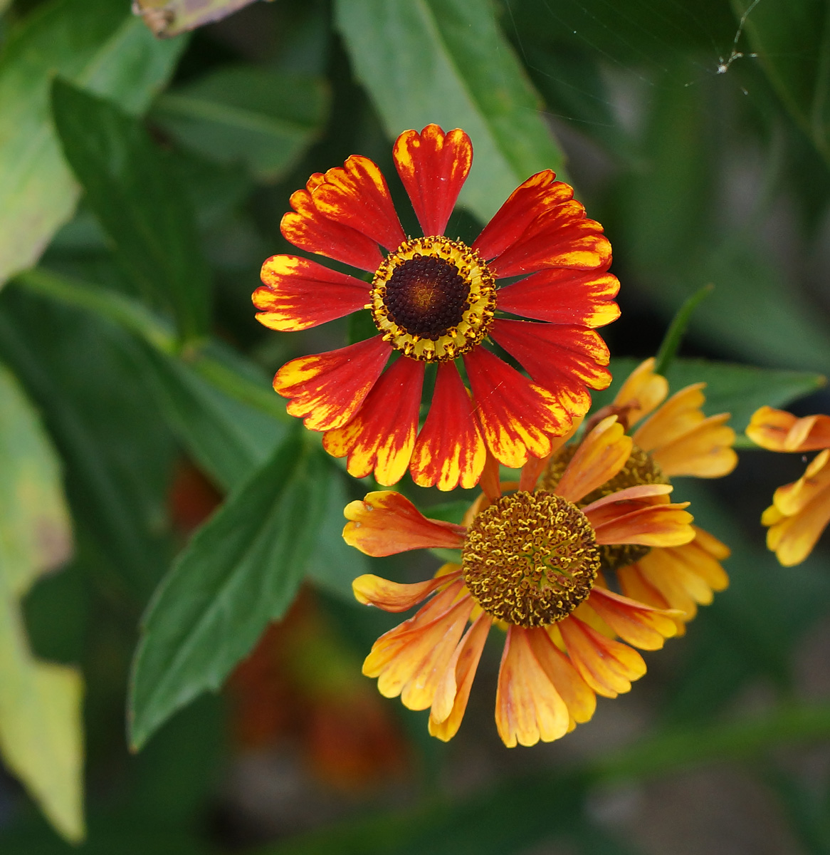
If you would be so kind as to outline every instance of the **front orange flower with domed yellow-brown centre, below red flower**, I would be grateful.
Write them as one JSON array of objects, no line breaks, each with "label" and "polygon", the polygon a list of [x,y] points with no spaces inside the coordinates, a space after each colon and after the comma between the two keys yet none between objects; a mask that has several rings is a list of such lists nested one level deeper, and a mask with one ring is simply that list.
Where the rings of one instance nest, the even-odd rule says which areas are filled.
[{"label": "front orange flower with domed yellow-brown centre, below red flower", "polygon": [[527,484],[483,478],[485,492],[463,525],[428,519],[397,492],[371,492],[349,504],[343,537],[368,555],[460,550],[458,563],[428,581],[407,585],[375,575],[354,581],[361,603],[390,612],[429,598],[366,657],[363,672],[377,677],[380,692],[400,694],[412,710],[429,708],[430,734],[451,739],[494,624],[506,630],[495,704],[506,746],[556,740],[593,716],[597,694],[628,692],[646,671],[634,647],[662,647],[676,633],[677,613],[609,590],[601,551],[675,547],[695,537],[688,503],[670,504],[667,484],[630,487],[577,507],[617,475],[631,448],[623,425],[608,416],[552,490],[535,490],[535,475],[524,472]]}]

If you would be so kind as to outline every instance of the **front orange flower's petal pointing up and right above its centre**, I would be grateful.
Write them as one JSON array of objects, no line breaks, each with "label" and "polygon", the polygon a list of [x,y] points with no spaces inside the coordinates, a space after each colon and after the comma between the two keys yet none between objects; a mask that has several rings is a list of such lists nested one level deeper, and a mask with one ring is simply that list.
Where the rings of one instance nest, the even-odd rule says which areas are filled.
[{"label": "front orange flower's petal pointing up and right above its centre", "polygon": [[623,469],[631,445],[631,437],[625,435],[617,416],[603,419],[582,440],[554,492],[569,502],[578,502]]}]

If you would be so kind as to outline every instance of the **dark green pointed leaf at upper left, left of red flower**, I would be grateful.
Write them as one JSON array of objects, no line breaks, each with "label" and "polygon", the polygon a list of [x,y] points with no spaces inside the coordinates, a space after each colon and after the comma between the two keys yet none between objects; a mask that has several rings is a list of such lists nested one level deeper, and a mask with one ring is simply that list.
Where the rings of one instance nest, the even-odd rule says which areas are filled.
[{"label": "dark green pointed leaf at upper left, left of red flower", "polygon": [[183,339],[204,334],[210,283],[196,218],[143,125],[60,79],[52,111],[67,161],[121,267],[149,304],[172,304]]}]

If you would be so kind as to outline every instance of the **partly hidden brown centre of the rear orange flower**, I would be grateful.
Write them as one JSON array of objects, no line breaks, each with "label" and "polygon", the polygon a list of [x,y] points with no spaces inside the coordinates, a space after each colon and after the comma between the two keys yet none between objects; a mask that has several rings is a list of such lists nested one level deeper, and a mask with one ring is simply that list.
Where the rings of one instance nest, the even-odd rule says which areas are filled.
[{"label": "partly hidden brown centre of the rear orange flower", "polygon": [[[553,490],[556,488],[559,479],[562,477],[564,470],[567,468],[578,447],[578,445],[566,445],[556,457],[553,457],[539,479],[539,488],[541,490]],[[625,490],[629,486],[668,483],[669,479],[663,475],[663,470],[654,462],[652,456],[637,445],[633,445],[631,454],[628,456],[623,469],[620,469],[617,475],[614,475],[610,481],[605,481],[605,484],[597,487],[593,492],[589,492],[579,502],[579,506],[584,508],[587,504],[595,502],[598,498],[605,498],[605,496],[610,496],[612,492]],[[634,564],[640,561],[640,558],[648,555],[651,548],[651,546],[643,546],[636,543],[600,546],[599,554],[602,557],[602,569],[618,570],[621,567],[628,567],[629,564]]]}]

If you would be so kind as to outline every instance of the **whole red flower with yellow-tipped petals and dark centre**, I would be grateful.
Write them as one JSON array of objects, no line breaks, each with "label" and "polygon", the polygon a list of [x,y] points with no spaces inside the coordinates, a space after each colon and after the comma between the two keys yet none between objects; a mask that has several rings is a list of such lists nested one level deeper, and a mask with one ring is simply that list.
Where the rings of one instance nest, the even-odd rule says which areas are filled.
[{"label": "whole red flower with yellow-tipped petals and dark centre", "polygon": [[[292,360],[274,388],[292,416],[324,432],[330,454],[348,457],[352,475],[374,471],[389,485],[409,468],[421,486],[471,487],[488,451],[514,468],[546,457],[552,439],[587,412],[588,389],[608,386],[608,351],[595,327],[619,315],[611,245],[549,169],[518,186],[471,246],[450,239],[444,231],[471,168],[470,138],[429,125],[402,133],[393,154],[424,237],[404,233],[368,158],[315,173],[292,195],[283,236],[368,271],[371,283],[274,256],[254,292],[257,318],[293,331],[371,310],[376,336]],[[482,346],[488,340],[529,377]],[[431,363],[435,389],[419,429]]]}]

